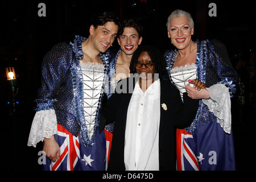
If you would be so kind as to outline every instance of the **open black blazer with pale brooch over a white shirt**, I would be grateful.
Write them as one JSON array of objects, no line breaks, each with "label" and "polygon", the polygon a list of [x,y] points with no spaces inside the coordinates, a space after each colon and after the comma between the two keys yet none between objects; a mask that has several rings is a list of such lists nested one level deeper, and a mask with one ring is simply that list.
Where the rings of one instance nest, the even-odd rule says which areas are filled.
[{"label": "open black blazer with pale brooch over a white shirt", "polygon": [[[102,107],[100,125],[115,121],[108,170],[125,170],[126,117],[137,80],[138,78],[129,77],[119,81],[116,92]],[[117,93],[117,88],[121,88],[126,93]],[[129,89],[130,93],[128,92]],[[187,93],[184,93],[183,99],[184,104],[181,101],[179,90],[170,81],[160,80],[160,104],[164,103],[167,106],[167,110],[160,106],[160,170],[176,170],[176,128],[184,129],[188,127],[196,116],[199,100],[193,100],[188,97]],[[99,129],[101,131],[102,126],[99,126]]]}]

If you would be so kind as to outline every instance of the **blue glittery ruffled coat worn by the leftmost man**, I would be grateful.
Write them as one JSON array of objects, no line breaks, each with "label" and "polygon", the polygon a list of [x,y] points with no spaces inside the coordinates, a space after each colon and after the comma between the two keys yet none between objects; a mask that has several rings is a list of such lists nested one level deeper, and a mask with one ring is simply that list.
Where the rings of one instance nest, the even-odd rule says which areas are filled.
[{"label": "blue glittery ruffled coat worn by the leftmost man", "polygon": [[[82,104],[83,78],[79,60],[83,58],[82,42],[85,40],[86,38],[76,36],[75,40],[69,44],[59,43],[44,57],[42,85],[38,90],[38,99],[35,100],[37,104],[35,110],[55,109],[58,124],[76,137],[80,132],[85,146],[93,146],[94,136],[90,140],[86,135],[86,127],[82,124],[85,120]],[[100,54],[105,77],[110,77],[109,64],[112,56],[109,51]],[[109,82],[106,81],[106,84]],[[106,84],[102,86],[102,89]],[[98,102],[96,127],[99,122],[103,94],[104,92]]]}]

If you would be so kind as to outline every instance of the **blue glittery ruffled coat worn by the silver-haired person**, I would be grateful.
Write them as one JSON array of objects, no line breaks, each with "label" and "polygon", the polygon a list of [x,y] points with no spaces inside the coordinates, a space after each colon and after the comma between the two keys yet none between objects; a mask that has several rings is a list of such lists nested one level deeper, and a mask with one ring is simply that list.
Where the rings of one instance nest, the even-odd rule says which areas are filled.
[{"label": "blue glittery ruffled coat worn by the silver-haired person", "polygon": [[[230,97],[234,97],[236,88],[238,86],[238,77],[236,71],[232,68],[229,61],[228,53],[224,44],[218,40],[197,40],[196,65],[197,65],[197,79],[204,82],[207,87],[214,84],[225,84],[229,88]],[[164,57],[167,61],[168,76],[173,84],[170,70],[174,66],[174,60],[177,56],[177,49],[173,51],[166,51]],[[208,106],[199,101],[199,108],[195,119],[191,126],[186,130],[192,133],[196,129],[197,123],[200,121],[205,125],[214,118],[214,114],[208,109]]]}]

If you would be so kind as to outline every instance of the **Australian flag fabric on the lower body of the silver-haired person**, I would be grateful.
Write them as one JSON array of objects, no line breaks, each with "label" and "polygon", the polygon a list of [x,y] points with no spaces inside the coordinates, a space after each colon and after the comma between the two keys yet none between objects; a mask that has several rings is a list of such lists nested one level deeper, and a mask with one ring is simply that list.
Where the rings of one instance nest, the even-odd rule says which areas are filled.
[{"label": "Australian flag fabric on the lower body of the silver-haired person", "polygon": [[236,170],[233,134],[226,134],[213,118],[198,122],[192,133],[177,129],[177,171]]}]

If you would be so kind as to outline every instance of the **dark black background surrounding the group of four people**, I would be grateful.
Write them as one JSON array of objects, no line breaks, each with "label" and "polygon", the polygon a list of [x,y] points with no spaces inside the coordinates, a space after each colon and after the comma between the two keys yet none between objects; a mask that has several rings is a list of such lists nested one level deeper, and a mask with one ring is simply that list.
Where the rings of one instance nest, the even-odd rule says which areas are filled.
[{"label": "dark black background surrounding the group of four people", "polygon": [[[46,4],[46,17],[39,17],[38,4]],[[216,3],[217,16],[210,17],[209,3]],[[89,20],[98,11],[112,11],[119,19],[139,19],[144,27],[142,44],[154,44],[162,51],[171,49],[166,22],[172,11],[191,13],[196,39],[218,39],[226,45],[230,60],[245,61],[243,76],[246,104],[232,100],[232,122],[237,170],[252,170],[255,131],[255,39],[256,6],[252,1],[159,1],[159,0],[93,0],[93,1],[1,1],[0,2],[0,110],[1,169],[40,170],[36,148],[27,147],[28,134],[35,111],[34,100],[40,86],[40,69],[44,55],[59,42],[70,42],[75,35],[88,37]],[[118,49],[115,42],[114,48]],[[15,67],[16,111],[10,117],[10,86],[6,67]],[[242,108],[242,109],[241,109]],[[254,152],[253,152],[254,153]]]}]

